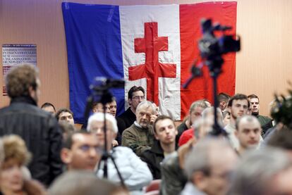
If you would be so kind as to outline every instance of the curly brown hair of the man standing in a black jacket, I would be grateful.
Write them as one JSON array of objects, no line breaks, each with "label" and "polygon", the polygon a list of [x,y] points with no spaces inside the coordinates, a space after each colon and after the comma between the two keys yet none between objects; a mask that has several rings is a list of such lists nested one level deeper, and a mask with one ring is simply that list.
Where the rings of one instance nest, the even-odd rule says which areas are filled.
[{"label": "curly brown hair of the man standing in a black jacket", "polygon": [[6,75],[7,94],[11,98],[30,96],[29,89],[37,89],[38,70],[34,65],[23,64]]}]

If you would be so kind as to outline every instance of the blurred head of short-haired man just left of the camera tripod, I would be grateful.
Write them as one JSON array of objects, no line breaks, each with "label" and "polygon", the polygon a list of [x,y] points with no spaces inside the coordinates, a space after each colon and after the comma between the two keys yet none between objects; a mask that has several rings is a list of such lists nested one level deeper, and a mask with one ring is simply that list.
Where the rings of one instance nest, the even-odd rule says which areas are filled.
[{"label": "blurred head of short-haired man just left of the camera tripod", "polygon": [[61,159],[68,170],[94,170],[101,156],[97,137],[85,131],[70,134],[61,150]]}]

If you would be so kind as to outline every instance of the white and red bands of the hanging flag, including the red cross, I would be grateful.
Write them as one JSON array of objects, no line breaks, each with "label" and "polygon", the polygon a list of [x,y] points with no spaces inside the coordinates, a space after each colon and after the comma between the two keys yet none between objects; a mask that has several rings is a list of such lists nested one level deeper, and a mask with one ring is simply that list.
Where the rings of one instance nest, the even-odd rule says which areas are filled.
[{"label": "white and red bands of the hanging flag, including the red cross", "polygon": [[[181,120],[193,101],[212,101],[212,80],[207,67],[188,89],[181,84],[190,76],[190,65],[199,56],[200,20],[212,18],[231,25],[236,33],[236,2],[186,5],[120,6],[125,99],[134,85],[142,86],[147,100],[163,114]],[[234,94],[236,54],[224,56],[218,91]],[[126,105],[127,107],[128,105]]]}]

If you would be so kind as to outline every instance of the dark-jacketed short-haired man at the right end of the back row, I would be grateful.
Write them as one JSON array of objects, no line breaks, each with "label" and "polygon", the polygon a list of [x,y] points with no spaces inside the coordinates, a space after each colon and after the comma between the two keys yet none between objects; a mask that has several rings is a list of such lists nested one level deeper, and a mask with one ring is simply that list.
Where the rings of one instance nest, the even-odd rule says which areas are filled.
[{"label": "dark-jacketed short-haired man at the right end of the back row", "polygon": [[272,120],[267,116],[260,115],[260,99],[257,95],[250,94],[248,96],[248,100],[250,101],[251,114],[259,120],[262,127],[262,136],[264,136],[265,132],[273,126]]}]

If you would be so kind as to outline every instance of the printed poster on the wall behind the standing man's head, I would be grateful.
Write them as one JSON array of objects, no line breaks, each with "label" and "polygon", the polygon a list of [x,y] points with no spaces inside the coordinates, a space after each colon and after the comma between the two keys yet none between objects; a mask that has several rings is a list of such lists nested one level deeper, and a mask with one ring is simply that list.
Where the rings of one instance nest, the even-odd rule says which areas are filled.
[{"label": "printed poster on the wall behind the standing man's head", "polygon": [[22,63],[37,65],[37,45],[35,44],[3,44],[3,95],[6,96],[5,77],[8,71]]}]

